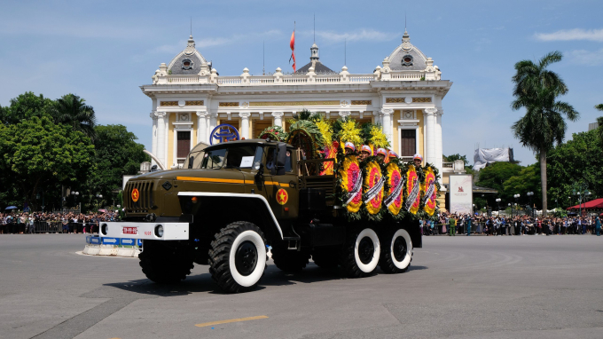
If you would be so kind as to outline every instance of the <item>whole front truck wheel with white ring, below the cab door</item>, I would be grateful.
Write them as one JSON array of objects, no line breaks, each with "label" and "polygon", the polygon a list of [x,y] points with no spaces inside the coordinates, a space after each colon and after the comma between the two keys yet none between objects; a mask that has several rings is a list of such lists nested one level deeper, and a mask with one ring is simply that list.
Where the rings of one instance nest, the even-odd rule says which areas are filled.
[{"label": "whole front truck wheel with white ring, below the cab door", "polygon": [[238,221],[215,234],[209,250],[209,272],[229,293],[254,289],[266,268],[266,240],[254,224]]}]

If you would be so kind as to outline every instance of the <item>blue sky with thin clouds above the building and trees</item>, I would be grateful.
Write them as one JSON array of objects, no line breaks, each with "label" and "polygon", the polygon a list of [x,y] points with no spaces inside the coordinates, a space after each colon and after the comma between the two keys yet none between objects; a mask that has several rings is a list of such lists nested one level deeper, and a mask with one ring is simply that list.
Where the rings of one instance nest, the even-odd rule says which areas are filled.
[{"label": "blue sky with thin clouds above the building and trees", "polygon": [[566,83],[564,100],[581,114],[568,135],[588,129],[603,113],[603,2],[522,1],[5,1],[0,21],[0,105],[25,91],[51,99],[73,92],[94,106],[98,122],[121,123],[151,148],[151,83],[161,62],[186,45],[192,17],[197,48],[221,75],[247,67],[290,69],[289,37],[297,21],[303,65],[316,13],[321,60],[343,66],[348,40],[351,73],[371,73],[400,43],[404,13],[411,43],[452,81],[443,101],[444,154],[513,146],[521,164],[535,162],[510,130],[513,65],[562,51],[552,67]]}]

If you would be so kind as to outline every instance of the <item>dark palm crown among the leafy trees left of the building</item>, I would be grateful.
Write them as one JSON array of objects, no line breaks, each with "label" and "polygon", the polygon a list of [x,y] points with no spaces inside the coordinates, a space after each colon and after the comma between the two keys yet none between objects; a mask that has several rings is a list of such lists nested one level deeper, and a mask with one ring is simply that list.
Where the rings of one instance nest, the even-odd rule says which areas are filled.
[{"label": "dark palm crown among the leafy trees left of the building", "polygon": [[55,101],[51,114],[56,123],[70,125],[74,130],[81,131],[94,142],[96,137],[94,127],[97,124],[97,117],[94,114],[94,108],[86,105],[85,102],[85,99],[74,94],[64,95]]}]

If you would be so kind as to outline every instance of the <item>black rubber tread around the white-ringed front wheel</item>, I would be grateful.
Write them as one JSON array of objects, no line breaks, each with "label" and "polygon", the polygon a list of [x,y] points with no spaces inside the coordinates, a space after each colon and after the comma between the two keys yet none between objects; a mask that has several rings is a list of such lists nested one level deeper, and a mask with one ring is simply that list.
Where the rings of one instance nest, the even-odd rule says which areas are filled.
[{"label": "black rubber tread around the white-ringed front wheel", "polygon": [[251,291],[257,287],[259,282],[258,280],[253,286],[244,287],[240,286],[231,275],[229,263],[231,245],[237,236],[245,231],[254,231],[260,234],[264,244],[266,243],[262,230],[247,221],[238,221],[227,225],[219,233],[215,233],[215,240],[211,242],[211,248],[209,249],[209,273],[211,273],[211,277],[218,287],[224,292],[242,293]]}]

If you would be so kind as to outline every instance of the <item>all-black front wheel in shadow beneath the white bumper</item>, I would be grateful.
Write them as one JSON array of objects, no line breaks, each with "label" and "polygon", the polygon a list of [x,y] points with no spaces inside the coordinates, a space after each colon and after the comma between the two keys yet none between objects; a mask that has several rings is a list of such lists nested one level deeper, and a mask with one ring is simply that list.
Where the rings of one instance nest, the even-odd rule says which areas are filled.
[{"label": "all-black front wheel in shadow beneath the white bumper", "polygon": [[174,245],[145,240],[138,259],[146,278],[160,284],[175,284],[191,274],[193,257],[188,254],[185,245],[179,248]]}]

